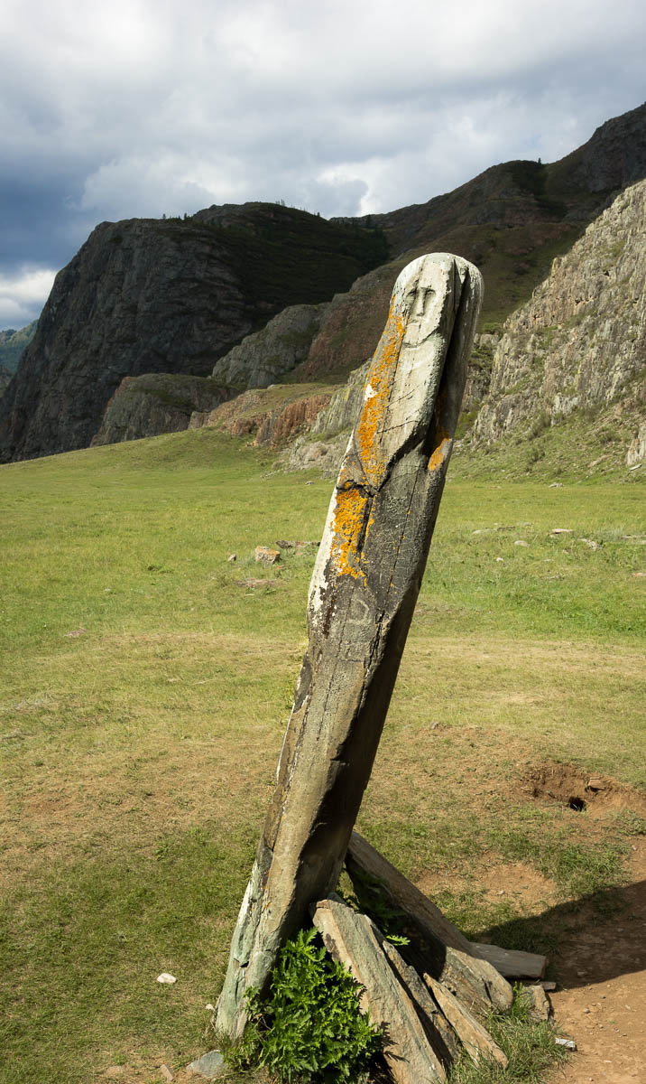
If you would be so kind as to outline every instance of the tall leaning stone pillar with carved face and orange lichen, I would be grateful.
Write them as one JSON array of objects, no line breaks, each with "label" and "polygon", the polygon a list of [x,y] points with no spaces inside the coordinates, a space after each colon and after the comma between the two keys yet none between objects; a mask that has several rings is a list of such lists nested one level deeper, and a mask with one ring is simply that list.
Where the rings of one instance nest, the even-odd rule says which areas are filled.
[{"label": "tall leaning stone pillar with carved face and orange lichen", "polygon": [[446,253],[401,272],[341,466],[307,605],[309,642],[217,1003],[245,1028],[285,941],[334,888],[420,590],[482,302]]}]

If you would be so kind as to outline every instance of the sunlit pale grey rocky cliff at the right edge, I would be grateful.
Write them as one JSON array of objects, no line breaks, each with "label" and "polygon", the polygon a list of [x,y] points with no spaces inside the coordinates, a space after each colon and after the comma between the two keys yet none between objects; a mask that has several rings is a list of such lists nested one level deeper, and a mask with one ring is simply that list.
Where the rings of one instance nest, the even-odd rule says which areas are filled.
[{"label": "sunlit pale grey rocky cliff at the right edge", "polygon": [[622,192],[504,325],[474,427],[492,441],[530,416],[640,396],[646,377],[646,181]]}]

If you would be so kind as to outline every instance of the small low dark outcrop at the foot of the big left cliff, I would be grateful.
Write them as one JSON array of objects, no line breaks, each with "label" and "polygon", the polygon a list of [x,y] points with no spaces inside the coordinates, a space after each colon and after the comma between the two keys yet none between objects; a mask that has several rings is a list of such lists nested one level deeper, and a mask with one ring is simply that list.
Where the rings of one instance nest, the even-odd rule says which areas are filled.
[{"label": "small low dark outcrop at the foot of the big left cliff", "polygon": [[234,388],[205,376],[145,373],[126,376],[109,400],[92,444],[156,437],[188,428],[195,411],[211,411],[232,399]]}]

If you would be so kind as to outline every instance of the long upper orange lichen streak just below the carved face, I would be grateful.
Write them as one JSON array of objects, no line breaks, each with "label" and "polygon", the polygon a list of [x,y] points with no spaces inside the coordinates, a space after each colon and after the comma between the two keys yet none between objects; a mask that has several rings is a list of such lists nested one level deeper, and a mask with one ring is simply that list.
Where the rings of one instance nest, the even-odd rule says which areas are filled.
[{"label": "long upper orange lichen streak just below the carved face", "polygon": [[367,480],[380,486],[387,463],[379,447],[379,427],[383,420],[393,383],[393,374],[399,358],[399,349],[406,331],[406,322],[391,302],[388,320],[374,351],[368,373],[361,416],[356,429],[356,442]]}]

